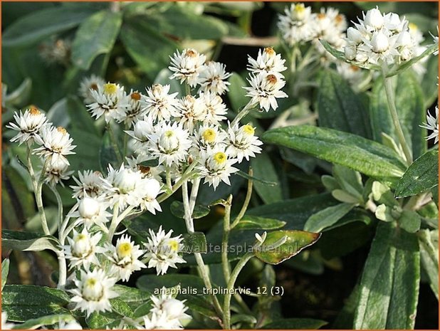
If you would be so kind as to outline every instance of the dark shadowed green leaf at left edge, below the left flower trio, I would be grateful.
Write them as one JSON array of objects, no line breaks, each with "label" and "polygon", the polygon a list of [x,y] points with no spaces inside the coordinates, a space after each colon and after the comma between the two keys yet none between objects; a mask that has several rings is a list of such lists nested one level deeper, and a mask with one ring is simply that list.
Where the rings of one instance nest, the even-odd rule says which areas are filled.
[{"label": "dark shadowed green leaf at left edge, below the left flower trio", "polygon": [[1,222],[4,228],[20,228],[35,214],[35,200],[26,182],[10,165],[1,172]]}]

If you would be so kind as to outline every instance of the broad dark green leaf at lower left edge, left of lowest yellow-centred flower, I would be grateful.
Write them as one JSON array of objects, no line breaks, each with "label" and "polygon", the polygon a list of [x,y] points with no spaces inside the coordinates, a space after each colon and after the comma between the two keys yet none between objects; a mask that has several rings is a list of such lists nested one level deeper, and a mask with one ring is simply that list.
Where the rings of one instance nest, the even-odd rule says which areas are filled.
[{"label": "broad dark green leaf at lower left edge, left of lowest yellow-centred flower", "polygon": [[1,309],[8,320],[25,322],[46,315],[69,314],[63,306],[70,298],[63,290],[36,285],[5,285],[1,295]]}]

